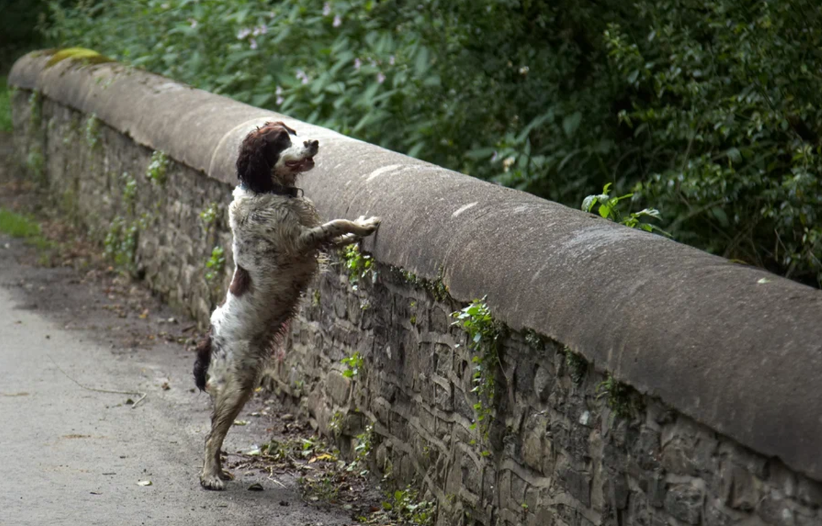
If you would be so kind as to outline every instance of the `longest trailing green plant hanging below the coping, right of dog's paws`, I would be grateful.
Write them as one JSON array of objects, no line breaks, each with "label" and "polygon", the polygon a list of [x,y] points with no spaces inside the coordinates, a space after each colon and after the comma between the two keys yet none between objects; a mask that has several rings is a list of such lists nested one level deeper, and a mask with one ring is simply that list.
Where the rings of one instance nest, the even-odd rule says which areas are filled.
[{"label": "longest trailing green plant hanging below the coping, right of dog's paws", "polygon": [[496,394],[494,376],[496,368],[501,366],[498,348],[501,327],[491,316],[486,298],[474,300],[468,307],[452,312],[451,316],[456,318],[452,325],[459,325],[468,333],[469,348],[474,352],[471,358],[474,366],[472,392],[477,394],[478,402],[473,406],[477,422],[472,428],[476,428],[479,423],[483,436],[487,438]]}]

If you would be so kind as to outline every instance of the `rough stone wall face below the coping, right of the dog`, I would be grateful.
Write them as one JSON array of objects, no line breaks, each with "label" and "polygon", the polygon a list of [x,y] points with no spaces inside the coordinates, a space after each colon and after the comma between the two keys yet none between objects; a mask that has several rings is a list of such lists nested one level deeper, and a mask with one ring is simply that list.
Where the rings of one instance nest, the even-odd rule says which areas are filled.
[{"label": "rough stone wall face below the coping, right of the dog", "polygon": [[[501,342],[484,440],[473,353],[450,325],[462,305],[386,265],[376,275],[356,288],[339,265],[322,275],[272,372],[343,450],[371,423],[376,467],[424,481],[438,524],[822,524],[820,482],[658,399],[630,394],[617,414],[598,390],[605,376],[530,333]],[[353,353],[365,366],[349,380],[341,360]]]}]

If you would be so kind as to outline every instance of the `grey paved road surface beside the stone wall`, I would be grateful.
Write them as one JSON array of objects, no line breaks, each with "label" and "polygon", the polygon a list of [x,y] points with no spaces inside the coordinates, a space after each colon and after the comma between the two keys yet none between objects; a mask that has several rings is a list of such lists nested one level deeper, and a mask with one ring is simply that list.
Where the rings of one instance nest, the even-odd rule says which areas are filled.
[{"label": "grey paved road surface beside the stone wall", "polygon": [[[65,284],[71,273],[17,265],[14,246],[2,248],[9,241],[0,236],[0,524],[352,524],[343,510],[303,504],[293,480],[280,478],[284,489],[259,472],[239,473],[224,492],[202,490],[208,400],[189,390],[192,353],[109,344],[87,291]],[[25,292],[46,287],[66,287],[64,316]],[[84,390],[68,376],[148,397],[131,408],[124,402],[136,395]],[[265,440],[264,427],[234,427],[226,449]],[[152,485],[137,485],[145,480]],[[248,491],[252,482],[265,491]]]}]

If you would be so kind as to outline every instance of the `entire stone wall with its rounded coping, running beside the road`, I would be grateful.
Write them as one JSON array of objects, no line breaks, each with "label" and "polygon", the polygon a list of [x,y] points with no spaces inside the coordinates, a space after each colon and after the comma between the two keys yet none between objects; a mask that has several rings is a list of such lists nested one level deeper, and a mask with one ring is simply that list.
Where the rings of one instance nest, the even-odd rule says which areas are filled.
[{"label": "entire stone wall with its rounded coping, running beside the road", "polygon": [[[95,99],[96,92],[85,93],[76,87],[81,84],[71,84],[86,82],[85,75],[104,78],[108,70],[89,68],[87,73],[72,69],[50,76],[50,72],[35,68],[41,67],[37,58],[22,60],[22,66],[16,66],[10,77],[18,86],[12,104],[17,149],[32,176],[47,184],[54,202],[73,219],[88,225],[101,246],[112,256],[120,256],[128,270],[205,323],[232,270],[230,233],[224,217],[233,182],[233,177],[226,175],[233,159],[230,152],[248,127],[271,117],[257,117],[253,108],[192,92],[199,101],[211,100],[206,95],[219,99],[210,108],[207,104],[196,106],[196,111],[210,112],[210,118],[222,127],[212,132],[203,129],[201,136],[184,141],[171,134],[172,138],[164,139],[169,141],[166,144],[152,138],[155,128],[135,121],[136,113],[129,107],[121,103],[112,106],[116,111],[106,113],[108,106]],[[25,67],[35,71],[35,76],[25,73]],[[170,97],[167,93],[181,93],[169,90],[168,81],[159,77],[140,75],[145,78],[118,79],[110,89],[124,83],[126,91],[143,90],[144,85],[148,90],[155,83],[161,89],[137,97],[135,100],[141,102],[134,105],[155,97],[152,104],[157,108],[172,105],[164,102]],[[87,85],[100,84],[96,80]],[[100,96],[113,97],[111,93]],[[242,117],[231,117],[238,114]],[[127,118],[129,115],[132,117]],[[252,115],[256,120],[249,120]],[[175,122],[173,116],[164,114],[163,122],[166,120]],[[300,123],[294,127],[299,132],[315,131]],[[226,136],[233,138],[226,140]],[[344,261],[332,255],[330,265],[308,291],[298,318],[291,323],[289,338],[275,355],[266,381],[284,399],[310,414],[321,431],[334,436],[344,453],[351,454],[357,436],[371,427],[373,449],[368,456],[372,466],[390,473],[398,485],[422,484],[439,504],[437,524],[822,524],[822,483],[816,476],[820,464],[815,459],[820,454],[820,436],[809,431],[820,418],[820,404],[815,403],[819,390],[806,380],[809,376],[818,379],[814,375],[822,360],[818,353],[819,318],[814,317],[816,291],[770,277],[768,280],[780,288],[753,288],[750,295],[746,295],[747,289],[723,294],[712,285],[716,283],[711,282],[712,275],[727,280],[723,273],[731,272],[731,281],[742,276],[741,283],[747,283],[749,270],[726,270],[675,243],[652,236],[636,237],[640,234],[623,233],[625,229],[613,230],[620,247],[634,247],[640,253],[636,261],[626,260],[642,276],[636,279],[635,274],[613,265],[622,257],[620,248],[603,246],[603,231],[585,226],[593,221],[593,228],[617,228],[602,219],[544,205],[550,221],[528,219],[525,229],[529,237],[524,238],[520,236],[523,228],[515,232],[510,225],[530,210],[542,210],[544,201],[520,196],[520,192],[488,189],[487,185],[475,187],[472,185],[480,183],[437,173],[436,168],[417,161],[398,168],[391,163],[401,156],[386,160],[383,157],[387,155],[378,152],[383,156],[379,157],[372,152],[378,149],[330,132],[321,135],[321,143],[328,157],[315,171],[328,178],[307,184],[307,195],[316,196],[326,216],[379,213],[386,222],[365,246],[375,257],[371,273],[352,282]],[[192,154],[196,149],[207,158]],[[152,157],[157,160],[155,152],[159,150],[171,158],[162,177],[150,170]],[[218,155],[221,151],[229,152],[224,159]],[[349,155],[356,162],[348,159]],[[367,178],[330,178],[334,170],[343,171],[341,166],[365,173]],[[405,183],[399,176],[390,176],[398,170],[413,173],[408,184],[416,187],[426,186],[424,182],[429,179],[422,179],[426,173],[436,175],[436,184],[442,179],[455,186],[446,190],[438,187],[434,197],[419,190],[404,191]],[[386,187],[366,184],[383,181]],[[324,193],[323,187],[330,189]],[[462,227],[443,228],[444,221],[439,222],[439,230],[424,228],[426,219],[436,215],[436,207],[459,193],[455,187],[468,188],[463,196],[471,197],[464,197],[464,202],[473,204],[449,205],[448,215],[461,218],[464,210],[473,207],[480,213],[470,218],[470,225],[480,224],[488,215],[494,219],[494,223],[474,231],[474,238],[460,231]],[[493,197],[488,201],[493,209],[483,203],[485,193]],[[398,195],[400,201],[396,201]],[[510,206],[502,202],[506,199]],[[387,202],[389,208],[374,210],[367,200]],[[345,214],[349,207],[351,211]],[[544,228],[533,226],[543,224]],[[573,235],[564,245],[528,245],[549,228],[569,228]],[[443,252],[444,245],[438,244],[438,239],[450,241],[449,236],[462,243],[458,245],[462,251],[449,248]],[[493,251],[479,246],[484,240],[501,238],[525,245],[528,254],[542,254],[537,262],[550,261],[563,250],[579,258],[548,267],[555,276],[569,268],[591,269],[598,261],[610,266],[595,268],[582,284],[574,282],[584,293],[568,293],[567,289],[561,293],[554,282],[535,281],[546,266],[529,261],[528,254],[510,261],[514,249],[503,247],[500,241],[494,241],[499,244]],[[637,248],[645,246],[651,248]],[[214,261],[215,247],[224,247],[224,265],[216,269],[212,279],[206,279],[215,270],[206,265]],[[591,257],[594,248],[607,251],[610,257]],[[505,256],[502,261],[507,261],[504,266],[495,262],[499,251]],[[487,265],[476,265],[476,261],[486,260]],[[534,274],[536,268],[539,270]],[[654,298],[649,289],[668,286],[644,277],[647,274],[642,272],[654,269],[678,276],[670,282],[669,293],[678,317],[666,318],[660,312],[663,309],[649,307]],[[750,272],[756,287],[756,280],[764,274]],[[688,288],[695,277],[704,282],[696,292]],[[596,279],[604,279],[604,284]],[[615,280],[630,289],[626,298],[631,302],[623,299],[608,308],[603,301],[612,301],[612,294],[605,291]],[[529,288],[524,283],[534,285]],[[563,278],[558,283],[567,287],[570,282]],[[586,286],[591,288],[587,293]],[[492,400],[480,399],[473,392],[477,385],[473,380],[478,366],[476,353],[464,331],[452,325],[450,316],[465,302],[482,295],[473,291],[492,293],[488,304],[494,316],[504,322],[498,358],[485,362],[493,374]],[[543,299],[522,300],[534,291]],[[699,302],[689,307],[688,295],[695,293]],[[783,297],[798,307],[778,308]],[[569,311],[575,302],[589,306],[589,311],[579,307],[570,312],[575,313],[580,326],[596,327],[595,334],[586,329],[579,336],[564,329],[546,307],[550,304],[557,311]],[[636,307],[643,302],[644,308]],[[756,317],[746,310],[762,302],[773,311]],[[726,303],[733,310],[720,318],[723,323],[718,326],[723,332],[712,332],[711,320],[705,316],[717,317],[714,306]],[[649,310],[658,314],[658,325],[640,321]],[[737,318],[734,311],[744,316]],[[790,316],[793,325],[778,318],[783,315]],[[810,318],[803,317],[806,315]],[[779,327],[803,330],[783,334]],[[767,332],[762,335],[757,329]],[[630,339],[630,330],[639,331],[644,341],[653,343],[626,344],[635,341]],[[749,338],[749,333],[754,337]],[[772,336],[773,344],[769,340]],[[682,348],[682,340],[699,345]],[[602,342],[609,341],[622,344],[603,346]],[[744,368],[733,362],[741,352],[735,345],[749,345],[749,341],[755,343],[739,363],[753,363],[750,375],[740,378],[750,382],[750,390],[731,390],[741,374],[738,371]],[[773,357],[770,362],[758,358],[760,347],[766,347],[761,356]],[[363,367],[358,367],[356,375],[342,362],[355,353],[363,358]],[[702,362],[713,360],[707,364],[711,367],[721,366],[719,372],[727,376],[727,386],[708,381],[713,374],[710,370],[684,367],[682,360],[694,355]],[[645,368],[632,369],[631,360],[643,362]],[[678,378],[676,390],[653,387],[658,385],[656,376],[665,375]],[[791,378],[796,385],[781,385],[781,378]],[[769,393],[782,393],[783,388],[793,393],[792,397],[774,394],[768,398]],[[733,404],[727,404],[729,400]],[[475,404],[492,411],[479,426],[475,426]],[[739,414],[767,418],[750,420],[765,423],[746,430],[728,423],[740,422]],[[804,418],[794,418],[795,414]],[[728,431],[719,431],[724,429]],[[791,436],[793,442],[774,439],[782,436],[779,433]],[[790,460],[783,463],[780,458]],[[797,461],[802,458],[809,460],[805,464]]]}]

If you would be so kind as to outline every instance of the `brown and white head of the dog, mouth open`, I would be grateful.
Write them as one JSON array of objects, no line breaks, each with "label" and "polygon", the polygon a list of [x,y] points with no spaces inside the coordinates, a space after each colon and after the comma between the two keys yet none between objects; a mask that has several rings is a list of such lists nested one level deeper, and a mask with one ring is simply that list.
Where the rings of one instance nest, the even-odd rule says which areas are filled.
[{"label": "brown and white head of the dog, mouth open", "polygon": [[283,122],[266,122],[240,145],[237,177],[249,190],[264,193],[293,187],[297,175],[314,168],[318,141],[302,141]]}]

